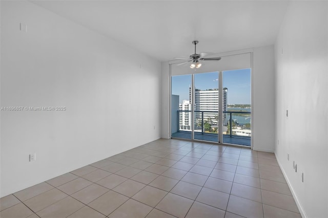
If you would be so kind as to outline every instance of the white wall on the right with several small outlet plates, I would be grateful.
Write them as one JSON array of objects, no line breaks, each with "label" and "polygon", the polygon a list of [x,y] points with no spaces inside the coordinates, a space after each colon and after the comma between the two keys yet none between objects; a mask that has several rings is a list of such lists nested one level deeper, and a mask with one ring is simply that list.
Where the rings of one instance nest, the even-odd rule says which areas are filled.
[{"label": "white wall on the right with several small outlet plates", "polygon": [[303,217],[328,217],[327,9],[290,2],[275,45],[275,153]]}]

